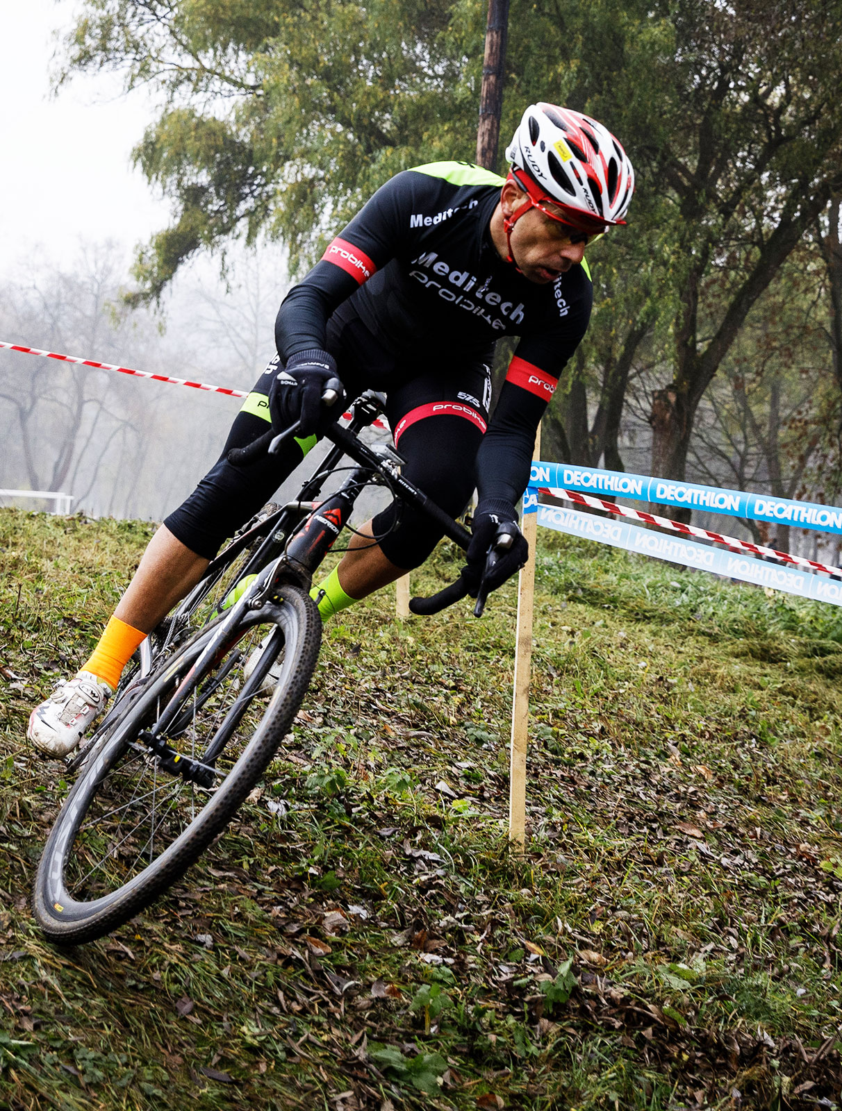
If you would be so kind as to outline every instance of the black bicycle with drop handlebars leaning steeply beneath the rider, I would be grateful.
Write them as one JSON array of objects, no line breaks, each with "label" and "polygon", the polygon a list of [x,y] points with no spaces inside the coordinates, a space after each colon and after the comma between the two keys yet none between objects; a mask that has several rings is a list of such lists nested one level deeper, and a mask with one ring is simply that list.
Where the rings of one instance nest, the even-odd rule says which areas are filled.
[{"label": "black bicycle with drop handlebars leaning steeply beneath the rider", "polygon": [[[309,593],[313,572],[365,486],[388,486],[467,548],[468,531],[401,474],[400,456],[359,438],[382,409],[382,397],[368,391],[348,428],[330,426],[324,436],[333,446],[298,498],[249,522],[148,638],[112,710],[72,762],[79,774],[41,855],[32,908],[49,940],[92,941],[133,918],[183,875],[245,801],[310,684],[321,644]],[[269,431],[229,458],[247,462],[294,431]],[[343,456],[355,466],[317,502]],[[501,533],[495,550],[510,542]],[[413,599],[412,609],[433,613],[464,593],[458,582]],[[484,601],[481,585],[477,615]]]}]

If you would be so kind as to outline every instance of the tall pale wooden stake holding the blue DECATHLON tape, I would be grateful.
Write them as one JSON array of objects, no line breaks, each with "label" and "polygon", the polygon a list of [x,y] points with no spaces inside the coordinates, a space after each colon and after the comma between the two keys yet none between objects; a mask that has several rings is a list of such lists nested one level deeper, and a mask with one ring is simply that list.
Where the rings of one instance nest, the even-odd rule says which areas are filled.
[{"label": "tall pale wooden stake holding the blue DECATHLON tape", "polygon": [[[541,458],[540,424],[532,458]],[[527,744],[529,741],[529,680],[532,669],[537,513],[529,513],[523,518],[523,536],[529,543],[529,560],[521,568],[518,577],[518,632],[514,642],[512,741],[509,760],[509,840],[517,852],[523,852],[527,842]]]}]

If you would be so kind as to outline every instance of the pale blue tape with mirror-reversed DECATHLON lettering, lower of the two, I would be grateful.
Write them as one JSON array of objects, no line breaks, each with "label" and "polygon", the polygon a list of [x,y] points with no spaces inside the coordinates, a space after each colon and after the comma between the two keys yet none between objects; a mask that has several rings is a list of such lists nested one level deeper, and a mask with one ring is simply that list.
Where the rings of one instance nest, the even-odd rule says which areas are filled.
[{"label": "pale blue tape with mirror-reversed DECATHLON lettering, lower of the two", "polygon": [[538,506],[537,512],[539,524],[554,529],[555,532],[565,532],[570,537],[597,540],[612,548],[624,548],[642,556],[653,556],[669,563],[681,563],[683,567],[724,574],[759,587],[771,587],[786,594],[798,594],[800,598],[812,598],[819,602],[842,605],[842,582],[810,574],[808,571],[776,567],[752,556],[735,556],[733,552],[700,544],[695,540],[651,532],[638,524],[595,517],[593,513],[580,513],[575,509]]}]

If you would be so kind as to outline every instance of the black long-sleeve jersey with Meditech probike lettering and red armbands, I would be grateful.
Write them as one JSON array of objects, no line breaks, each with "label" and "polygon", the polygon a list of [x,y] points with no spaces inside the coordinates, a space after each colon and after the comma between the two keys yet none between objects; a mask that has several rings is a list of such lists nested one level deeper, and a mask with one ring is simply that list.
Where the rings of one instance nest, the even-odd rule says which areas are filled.
[{"label": "black long-sleeve jersey with Meditech probike lettering and red armbands", "polygon": [[[367,329],[412,366],[490,361],[501,336],[520,341],[478,458],[480,496],[517,501],[535,430],[588,328],[587,263],[553,284],[528,281],[500,258],[490,231],[503,179],[467,162],[432,162],[382,186],[283,301],[283,360],[324,348],[348,298]],[[388,387],[387,387],[388,388]]]}]

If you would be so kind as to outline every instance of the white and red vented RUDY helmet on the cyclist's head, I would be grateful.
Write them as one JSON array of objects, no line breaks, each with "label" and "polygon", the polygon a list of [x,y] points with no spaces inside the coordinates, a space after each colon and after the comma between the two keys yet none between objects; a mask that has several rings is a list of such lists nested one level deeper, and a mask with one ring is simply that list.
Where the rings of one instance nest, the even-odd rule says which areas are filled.
[{"label": "white and red vented RUDY helmet on the cyclist's head", "polygon": [[505,157],[530,200],[558,206],[577,230],[593,234],[625,223],[634,170],[608,128],[589,116],[530,104]]}]

